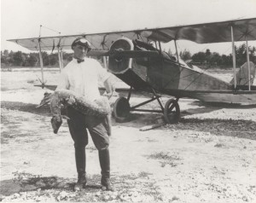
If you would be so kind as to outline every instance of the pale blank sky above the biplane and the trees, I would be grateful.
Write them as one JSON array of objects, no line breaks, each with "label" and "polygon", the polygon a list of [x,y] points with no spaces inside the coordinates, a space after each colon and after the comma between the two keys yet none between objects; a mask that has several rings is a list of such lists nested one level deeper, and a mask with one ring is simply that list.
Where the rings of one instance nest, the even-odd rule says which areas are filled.
[{"label": "pale blank sky above the biplane and the trees", "polygon": [[[256,17],[256,0],[1,0],[1,50],[21,50],[7,42],[90,32],[112,32]],[[248,42],[256,46],[255,42]],[[237,43],[236,45],[240,45]],[[173,43],[163,45],[172,49]],[[229,55],[231,44],[178,41],[192,54],[210,49]]]}]

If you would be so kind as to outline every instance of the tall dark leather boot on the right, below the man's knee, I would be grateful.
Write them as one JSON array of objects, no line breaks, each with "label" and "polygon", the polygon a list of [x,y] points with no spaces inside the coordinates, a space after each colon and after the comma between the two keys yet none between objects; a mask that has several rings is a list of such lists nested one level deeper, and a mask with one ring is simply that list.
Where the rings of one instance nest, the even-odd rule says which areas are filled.
[{"label": "tall dark leather boot on the right, below the man's knee", "polygon": [[100,165],[102,168],[102,190],[111,190],[113,187],[110,183],[110,156],[108,148],[99,150]]}]

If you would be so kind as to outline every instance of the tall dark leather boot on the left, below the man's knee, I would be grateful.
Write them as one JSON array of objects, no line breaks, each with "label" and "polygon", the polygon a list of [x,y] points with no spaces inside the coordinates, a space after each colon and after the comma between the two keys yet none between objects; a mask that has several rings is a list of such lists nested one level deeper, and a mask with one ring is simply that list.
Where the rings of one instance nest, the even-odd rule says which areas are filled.
[{"label": "tall dark leather boot on the left, below the man's knee", "polygon": [[78,182],[74,186],[74,191],[79,191],[86,185],[86,154],[85,148],[75,148],[75,159],[78,171]]}]

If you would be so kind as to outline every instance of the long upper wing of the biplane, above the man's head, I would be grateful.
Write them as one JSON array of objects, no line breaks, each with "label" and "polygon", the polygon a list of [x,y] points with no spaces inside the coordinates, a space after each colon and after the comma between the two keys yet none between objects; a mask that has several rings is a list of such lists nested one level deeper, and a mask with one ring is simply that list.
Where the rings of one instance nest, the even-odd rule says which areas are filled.
[{"label": "long upper wing of the biplane, above the man's head", "polygon": [[140,39],[143,42],[185,39],[198,44],[222,43],[231,41],[231,26],[234,40],[256,40],[256,18],[210,22],[196,25],[169,26],[160,28],[145,28],[124,32],[84,33],[79,35],[56,36],[46,38],[21,38],[8,41],[20,44],[26,49],[38,50],[39,42],[42,50],[71,49],[73,40],[85,37],[90,41],[93,49],[109,49],[111,44],[121,37]]}]

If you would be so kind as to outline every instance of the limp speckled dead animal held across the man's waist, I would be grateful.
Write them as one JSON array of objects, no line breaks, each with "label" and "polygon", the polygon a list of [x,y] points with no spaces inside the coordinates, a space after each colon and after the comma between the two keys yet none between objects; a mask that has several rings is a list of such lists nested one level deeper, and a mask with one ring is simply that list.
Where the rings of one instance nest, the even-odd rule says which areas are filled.
[{"label": "limp speckled dead animal held across the man's waist", "polygon": [[52,113],[51,126],[54,133],[59,131],[63,119],[69,119],[65,115],[61,115],[61,104],[71,106],[80,113],[94,115],[98,117],[105,117],[108,123],[108,135],[111,134],[111,108],[108,98],[101,96],[99,100],[89,101],[84,96],[79,96],[71,90],[55,90],[50,96],[50,110]]}]

